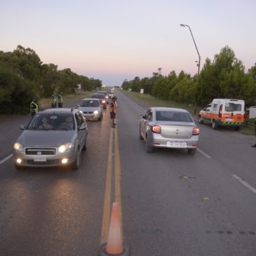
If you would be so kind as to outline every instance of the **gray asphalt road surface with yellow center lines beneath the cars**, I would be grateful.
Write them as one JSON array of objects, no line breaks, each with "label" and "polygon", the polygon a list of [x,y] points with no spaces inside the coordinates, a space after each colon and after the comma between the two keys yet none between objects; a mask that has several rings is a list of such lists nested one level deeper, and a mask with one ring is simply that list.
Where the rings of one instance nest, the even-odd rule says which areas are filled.
[{"label": "gray asphalt road surface with yellow center lines beneath the cars", "polygon": [[0,255],[97,255],[118,201],[130,255],[255,256],[255,137],[199,125],[194,156],[147,154],[138,115],[149,106],[115,94],[117,128],[106,111],[88,122],[77,171],[16,171],[8,156],[26,117],[1,125]]}]

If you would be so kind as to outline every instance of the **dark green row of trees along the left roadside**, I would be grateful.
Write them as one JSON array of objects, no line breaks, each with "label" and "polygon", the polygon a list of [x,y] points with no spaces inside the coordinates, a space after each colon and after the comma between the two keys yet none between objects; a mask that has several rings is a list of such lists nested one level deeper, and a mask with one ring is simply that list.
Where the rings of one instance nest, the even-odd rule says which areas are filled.
[{"label": "dark green row of trees along the left roadside", "polygon": [[28,112],[32,97],[50,97],[53,91],[75,93],[78,84],[83,90],[93,90],[101,87],[102,81],[43,64],[31,48],[0,51],[0,114]]}]

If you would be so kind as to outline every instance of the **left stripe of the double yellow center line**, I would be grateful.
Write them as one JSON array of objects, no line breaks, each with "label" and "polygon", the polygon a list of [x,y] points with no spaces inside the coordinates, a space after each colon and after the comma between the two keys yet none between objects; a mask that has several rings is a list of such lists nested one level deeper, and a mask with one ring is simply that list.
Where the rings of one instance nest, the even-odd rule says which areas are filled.
[{"label": "left stripe of the double yellow center line", "polygon": [[109,135],[109,158],[107,160],[107,177],[105,187],[105,199],[103,206],[101,244],[107,242],[107,231],[109,229],[110,218],[110,199],[111,199],[111,183],[112,183],[112,150],[113,150],[113,129],[110,129]]}]

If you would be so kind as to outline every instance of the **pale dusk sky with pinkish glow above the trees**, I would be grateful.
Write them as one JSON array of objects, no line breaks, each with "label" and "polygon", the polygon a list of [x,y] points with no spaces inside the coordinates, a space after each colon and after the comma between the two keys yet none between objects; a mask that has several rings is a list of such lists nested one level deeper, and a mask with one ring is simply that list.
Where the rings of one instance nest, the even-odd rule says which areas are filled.
[{"label": "pale dusk sky with pinkish glow above the trees", "polygon": [[121,86],[135,76],[196,74],[229,46],[245,71],[256,62],[256,1],[0,0],[0,50],[32,48],[43,63]]}]

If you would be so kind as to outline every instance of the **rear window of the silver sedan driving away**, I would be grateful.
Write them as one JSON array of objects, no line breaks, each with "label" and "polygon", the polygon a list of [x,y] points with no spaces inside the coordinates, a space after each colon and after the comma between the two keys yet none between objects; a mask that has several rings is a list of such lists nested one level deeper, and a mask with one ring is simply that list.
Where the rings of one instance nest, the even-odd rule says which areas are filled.
[{"label": "rear window of the silver sedan driving away", "polygon": [[191,123],[193,120],[189,113],[186,112],[156,112],[156,121],[176,121],[176,122],[187,122]]}]

